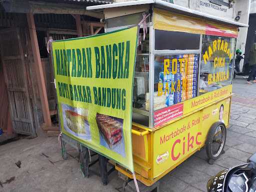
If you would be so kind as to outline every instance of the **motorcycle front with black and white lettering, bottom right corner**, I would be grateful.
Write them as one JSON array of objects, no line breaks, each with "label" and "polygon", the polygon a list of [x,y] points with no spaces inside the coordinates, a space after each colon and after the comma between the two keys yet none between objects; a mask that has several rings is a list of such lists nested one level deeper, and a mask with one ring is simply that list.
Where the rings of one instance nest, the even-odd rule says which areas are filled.
[{"label": "motorcycle front with black and white lettering, bottom right corner", "polygon": [[207,192],[255,192],[256,153],[247,163],[233,166],[218,172],[207,182]]}]

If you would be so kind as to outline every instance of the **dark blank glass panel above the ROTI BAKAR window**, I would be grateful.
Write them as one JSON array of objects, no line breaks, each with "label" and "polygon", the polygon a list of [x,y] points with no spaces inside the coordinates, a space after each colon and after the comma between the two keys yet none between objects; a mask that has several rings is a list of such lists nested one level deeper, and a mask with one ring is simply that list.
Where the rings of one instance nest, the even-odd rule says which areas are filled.
[{"label": "dark blank glass panel above the ROTI BAKAR window", "polygon": [[155,50],[199,49],[200,34],[154,30]]}]

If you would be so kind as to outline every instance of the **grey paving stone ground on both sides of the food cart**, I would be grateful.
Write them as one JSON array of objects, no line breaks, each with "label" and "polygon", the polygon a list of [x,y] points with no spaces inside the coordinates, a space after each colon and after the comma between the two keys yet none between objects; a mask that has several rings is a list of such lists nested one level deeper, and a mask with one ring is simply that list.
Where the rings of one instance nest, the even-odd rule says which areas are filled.
[{"label": "grey paving stone ground on both sides of the food cart", "polygon": [[[233,92],[225,153],[210,165],[202,148],[160,180],[160,191],[206,191],[210,176],[245,162],[256,152],[256,84],[245,84],[244,79],[237,77]],[[73,157],[77,155],[73,149],[68,153]],[[116,171],[110,174],[107,186],[103,186],[95,174],[83,178],[77,159],[70,155],[62,160],[56,137],[41,136],[0,145],[0,182],[4,183],[0,192],[107,192],[117,191],[115,188],[122,185]],[[15,165],[18,160],[20,168]],[[98,171],[97,164],[92,169]]]}]

